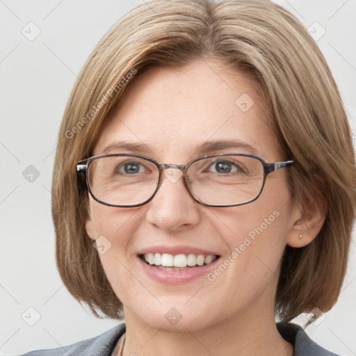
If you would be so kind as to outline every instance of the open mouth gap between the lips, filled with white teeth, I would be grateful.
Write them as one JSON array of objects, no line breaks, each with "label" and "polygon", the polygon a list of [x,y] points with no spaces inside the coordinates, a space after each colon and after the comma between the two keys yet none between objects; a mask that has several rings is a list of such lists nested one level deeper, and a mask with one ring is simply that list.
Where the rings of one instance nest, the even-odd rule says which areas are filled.
[{"label": "open mouth gap between the lips, filled with white teeth", "polygon": [[220,258],[218,254],[168,254],[168,253],[147,253],[140,254],[138,257],[146,264],[165,270],[184,270],[188,268],[197,268],[207,266],[211,262]]}]

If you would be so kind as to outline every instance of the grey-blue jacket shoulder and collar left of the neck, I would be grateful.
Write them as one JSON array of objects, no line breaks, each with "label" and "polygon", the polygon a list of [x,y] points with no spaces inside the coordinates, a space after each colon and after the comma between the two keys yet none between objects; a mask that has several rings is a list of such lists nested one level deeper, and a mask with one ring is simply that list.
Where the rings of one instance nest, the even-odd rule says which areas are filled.
[{"label": "grey-blue jacket shoulder and collar left of the neck", "polygon": [[22,356],[111,356],[118,339],[125,331],[125,327],[126,325],[122,323],[92,339],[79,341],[70,346],[63,346],[60,348],[31,351],[31,353],[26,353]]}]

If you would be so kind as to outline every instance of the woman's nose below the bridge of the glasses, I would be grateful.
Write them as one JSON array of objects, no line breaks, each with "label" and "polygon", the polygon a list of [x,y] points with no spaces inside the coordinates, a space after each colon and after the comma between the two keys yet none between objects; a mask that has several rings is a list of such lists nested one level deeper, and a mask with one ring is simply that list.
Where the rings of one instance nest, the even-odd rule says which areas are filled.
[{"label": "woman's nose below the bridge of the glasses", "polygon": [[179,169],[164,171],[161,186],[147,205],[147,221],[166,232],[176,232],[200,222],[202,206],[187,191]]}]

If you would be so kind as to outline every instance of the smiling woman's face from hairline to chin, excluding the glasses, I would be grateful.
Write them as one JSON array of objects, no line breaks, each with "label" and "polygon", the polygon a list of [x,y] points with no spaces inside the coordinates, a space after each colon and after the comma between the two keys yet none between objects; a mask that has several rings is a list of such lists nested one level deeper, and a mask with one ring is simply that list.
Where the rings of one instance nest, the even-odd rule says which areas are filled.
[{"label": "smiling woman's face from hairline to chin, excluding the glasses", "polygon": [[[232,68],[197,60],[138,75],[102,130],[95,155],[133,153],[177,165],[220,153],[286,159],[265,103]],[[197,154],[204,143],[227,140],[236,147]],[[120,149],[122,142],[142,147]],[[127,322],[193,331],[229,319],[274,318],[280,260],[300,214],[286,169],[268,175],[259,198],[238,207],[195,202],[179,170],[166,171],[159,191],[141,207],[107,207],[90,197],[86,229],[92,240],[105,241],[99,257]],[[145,252],[220,258],[182,272],[145,264],[139,256]]]}]

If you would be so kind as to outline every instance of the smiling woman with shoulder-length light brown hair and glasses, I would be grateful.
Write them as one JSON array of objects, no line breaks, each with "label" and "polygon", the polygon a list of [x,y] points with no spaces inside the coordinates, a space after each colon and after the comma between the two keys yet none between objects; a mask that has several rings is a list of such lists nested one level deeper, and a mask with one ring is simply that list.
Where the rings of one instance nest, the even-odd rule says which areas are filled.
[{"label": "smiling woman with shoulder-length light brown hair and glasses", "polygon": [[125,323],[33,355],[334,355],[289,321],[337,301],[355,177],[339,90],[290,13],[138,6],[83,67],[52,186],[67,289]]}]

